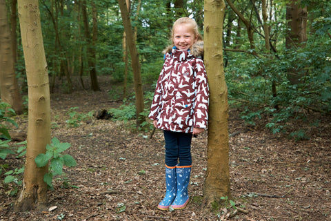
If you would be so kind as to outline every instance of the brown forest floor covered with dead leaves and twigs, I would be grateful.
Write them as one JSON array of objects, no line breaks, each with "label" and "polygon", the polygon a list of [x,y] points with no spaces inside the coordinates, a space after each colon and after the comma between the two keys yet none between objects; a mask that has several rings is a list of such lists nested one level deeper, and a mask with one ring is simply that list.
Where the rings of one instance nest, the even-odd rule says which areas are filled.
[{"label": "brown forest floor covered with dead leaves and twigs", "polygon": [[[150,139],[150,132],[136,131],[133,121],[95,118],[68,127],[70,108],[79,107],[75,111],[87,115],[123,104],[110,99],[110,79],[99,82],[102,91],[78,88],[70,95],[51,94],[52,137],[70,143],[66,153],[77,161],[77,166],[64,169],[66,175],[54,179],[54,190],[48,191],[48,206],[56,209],[15,213],[12,204],[17,195],[8,195],[11,186],[1,184],[0,220],[331,220],[330,115],[310,113],[307,122],[292,125],[310,136],[294,142],[259,124],[247,126],[239,111],[230,109],[230,186],[239,211],[231,214],[236,208],[230,205],[210,213],[201,208],[207,132],[192,140],[190,203],[182,211],[159,211],[157,204],[165,193],[161,131]],[[316,120],[319,128],[310,124]],[[26,115],[17,117],[17,131],[26,132],[27,122]],[[23,162],[23,157],[6,158],[9,169],[20,168]]]}]

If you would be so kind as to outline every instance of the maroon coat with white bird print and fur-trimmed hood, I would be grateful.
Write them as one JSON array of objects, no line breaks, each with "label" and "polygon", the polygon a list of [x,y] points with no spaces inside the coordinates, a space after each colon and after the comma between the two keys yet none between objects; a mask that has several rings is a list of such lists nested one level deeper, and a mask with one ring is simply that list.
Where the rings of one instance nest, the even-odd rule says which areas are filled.
[{"label": "maroon coat with white bird print and fur-trimmed hood", "polygon": [[191,50],[166,52],[148,116],[157,120],[157,128],[192,133],[194,127],[207,127],[209,88],[202,53],[201,42]]}]

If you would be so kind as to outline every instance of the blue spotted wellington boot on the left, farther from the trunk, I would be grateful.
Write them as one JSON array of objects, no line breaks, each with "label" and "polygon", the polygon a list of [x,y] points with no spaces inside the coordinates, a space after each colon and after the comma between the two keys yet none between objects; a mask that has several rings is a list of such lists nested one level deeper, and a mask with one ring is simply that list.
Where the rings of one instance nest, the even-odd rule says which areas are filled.
[{"label": "blue spotted wellington boot on the left, farther from the trunk", "polygon": [[165,165],[165,184],[167,185],[167,191],[165,191],[163,200],[157,206],[157,209],[161,210],[168,210],[174,198],[176,198],[176,166]]}]

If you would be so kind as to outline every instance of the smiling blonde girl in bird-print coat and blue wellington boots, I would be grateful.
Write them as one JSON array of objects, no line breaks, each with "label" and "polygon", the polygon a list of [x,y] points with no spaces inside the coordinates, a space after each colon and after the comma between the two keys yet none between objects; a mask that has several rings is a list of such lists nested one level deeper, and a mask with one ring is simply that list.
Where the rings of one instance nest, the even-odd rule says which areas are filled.
[{"label": "smiling blonde girl in bird-print coat and blue wellington boots", "polygon": [[208,121],[209,88],[203,64],[203,42],[197,23],[188,17],[174,22],[172,46],[157,81],[150,115],[165,139],[165,197],[158,209],[184,209],[192,167],[191,140]]}]

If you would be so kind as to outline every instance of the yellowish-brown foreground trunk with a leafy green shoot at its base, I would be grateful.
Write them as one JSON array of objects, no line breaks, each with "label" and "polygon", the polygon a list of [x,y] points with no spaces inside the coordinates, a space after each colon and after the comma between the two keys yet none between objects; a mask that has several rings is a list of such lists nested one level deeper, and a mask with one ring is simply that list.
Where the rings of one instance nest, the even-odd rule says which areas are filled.
[{"label": "yellowish-brown foreground trunk with a leafy green shoot at its base", "polygon": [[45,153],[46,145],[50,144],[48,66],[43,48],[38,0],[19,0],[18,6],[28,79],[29,112],[23,189],[14,209],[27,211],[36,207],[39,211],[46,211],[47,184],[43,181],[43,175],[48,172],[48,166],[37,167],[34,158],[39,153]]}]

